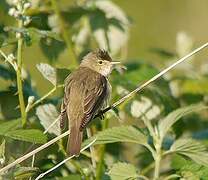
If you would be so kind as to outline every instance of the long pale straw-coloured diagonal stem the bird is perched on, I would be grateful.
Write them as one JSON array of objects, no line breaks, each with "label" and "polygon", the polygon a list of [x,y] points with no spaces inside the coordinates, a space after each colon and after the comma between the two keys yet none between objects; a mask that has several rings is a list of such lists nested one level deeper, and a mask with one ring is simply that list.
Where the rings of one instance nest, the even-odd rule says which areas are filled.
[{"label": "long pale straw-coloured diagonal stem the bird is perched on", "polygon": [[[133,96],[135,93],[143,90],[147,85],[149,85],[150,83],[152,83],[153,81],[157,80],[158,78],[160,78],[162,75],[164,75],[165,73],[167,73],[168,71],[170,71],[171,69],[173,69],[175,66],[177,66],[178,64],[182,63],[183,61],[185,61],[186,59],[188,59],[189,57],[193,56],[194,54],[198,53],[199,51],[201,51],[202,49],[206,48],[208,46],[208,42],[203,44],[202,46],[200,46],[199,48],[195,49],[194,51],[192,51],[191,53],[189,53],[188,55],[184,56],[183,58],[179,59],[178,61],[176,61],[174,64],[170,65],[169,67],[167,67],[166,69],[164,69],[163,71],[161,71],[159,74],[155,75],[154,77],[152,77],[150,80],[146,81],[144,84],[142,84],[140,87],[136,88],[135,90],[131,91],[129,94],[127,94],[126,96],[124,96],[123,98],[121,98],[120,100],[116,101],[112,106],[106,108],[105,110],[103,110],[102,113],[105,113],[107,111],[109,111],[111,108],[116,107],[118,105],[120,105],[121,103],[123,103],[124,101],[126,101],[127,99],[129,99],[131,96]],[[99,116],[99,115],[98,115]],[[59,139],[67,136],[69,134],[69,131],[61,134],[60,136],[52,139],[51,141],[47,142],[46,144],[38,147],[37,149],[33,150],[32,152],[18,158],[17,160],[15,160],[14,162],[8,164],[7,166],[3,167],[2,169],[0,169],[0,173],[3,173],[4,171],[7,171],[8,169],[14,167],[15,165],[21,163],[22,161],[28,159],[29,157],[31,157],[32,155],[36,154],[37,152],[45,149],[46,147],[50,146],[51,144],[55,143],[56,141],[58,141]]]}]

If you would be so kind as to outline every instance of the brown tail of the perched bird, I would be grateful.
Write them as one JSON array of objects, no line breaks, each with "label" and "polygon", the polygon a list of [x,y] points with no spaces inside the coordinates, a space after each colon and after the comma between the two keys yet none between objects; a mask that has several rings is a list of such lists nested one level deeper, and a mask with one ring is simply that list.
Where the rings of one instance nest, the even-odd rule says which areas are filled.
[{"label": "brown tail of the perched bird", "polygon": [[72,127],[67,143],[67,153],[69,156],[79,156],[82,144],[83,131],[78,127]]}]

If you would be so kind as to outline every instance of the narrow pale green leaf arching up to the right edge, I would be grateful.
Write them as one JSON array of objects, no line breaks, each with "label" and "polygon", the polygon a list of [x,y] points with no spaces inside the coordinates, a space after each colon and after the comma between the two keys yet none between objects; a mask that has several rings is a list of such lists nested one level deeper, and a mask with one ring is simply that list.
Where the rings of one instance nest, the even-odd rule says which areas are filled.
[{"label": "narrow pale green leaf arching up to the right edge", "polygon": [[171,113],[169,113],[164,119],[159,122],[158,129],[160,137],[163,138],[171,126],[178,121],[181,117],[202,109],[207,109],[208,107],[203,104],[192,104],[187,107],[179,108]]}]

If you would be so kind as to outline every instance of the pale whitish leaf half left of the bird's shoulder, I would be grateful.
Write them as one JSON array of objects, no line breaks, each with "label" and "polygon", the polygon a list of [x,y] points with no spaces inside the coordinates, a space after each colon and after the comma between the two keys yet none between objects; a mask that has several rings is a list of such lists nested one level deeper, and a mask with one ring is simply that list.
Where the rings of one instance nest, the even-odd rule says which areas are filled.
[{"label": "pale whitish leaf half left of the bird's shoulder", "polygon": [[56,85],[56,69],[46,63],[37,64],[36,67],[41,72],[43,77],[50,81],[54,86]]}]

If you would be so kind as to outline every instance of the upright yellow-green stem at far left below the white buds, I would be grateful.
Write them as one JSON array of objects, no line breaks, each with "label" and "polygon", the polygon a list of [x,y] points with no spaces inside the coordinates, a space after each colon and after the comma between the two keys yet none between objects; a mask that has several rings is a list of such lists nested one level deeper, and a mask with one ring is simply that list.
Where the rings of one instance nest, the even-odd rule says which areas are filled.
[{"label": "upright yellow-green stem at far left below the white buds", "polygon": [[[23,27],[23,21],[18,21],[18,27]],[[18,96],[19,96],[19,104],[20,104],[20,111],[21,111],[21,117],[22,117],[22,126],[25,127],[27,123],[27,114],[25,112],[25,102],[24,102],[24,96],[23,96],[23,88],[22,88],[22,78],[21,78],[21,72],[22,72],[22,46],[23,46],[23,39],[22,37],[19,37],[18,39],[18,46],[17,46],[17,89],[18,89]]]}]

